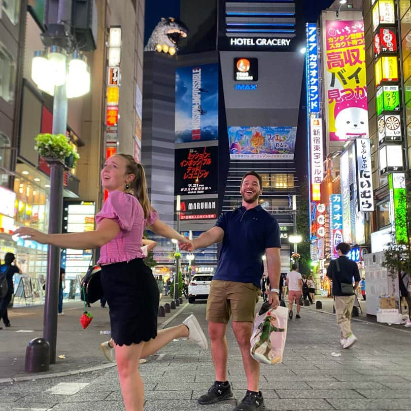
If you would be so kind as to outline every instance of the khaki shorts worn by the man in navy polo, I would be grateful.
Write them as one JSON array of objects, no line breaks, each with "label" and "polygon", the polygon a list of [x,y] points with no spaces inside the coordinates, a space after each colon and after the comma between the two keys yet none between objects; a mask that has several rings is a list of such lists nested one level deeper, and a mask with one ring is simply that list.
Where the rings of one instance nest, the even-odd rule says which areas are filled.
[{"label": "khaki shorts worn by the man in navy polo", "polygon": [[255,304],[261,290],[252,283],[212,280],[207,300],[207,320],[227,324],[254,322]]}]

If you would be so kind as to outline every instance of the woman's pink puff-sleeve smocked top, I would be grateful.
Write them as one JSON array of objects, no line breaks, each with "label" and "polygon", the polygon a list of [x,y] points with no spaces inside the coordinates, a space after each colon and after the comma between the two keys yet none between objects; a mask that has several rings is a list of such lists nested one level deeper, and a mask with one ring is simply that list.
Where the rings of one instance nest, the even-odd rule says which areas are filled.
[{"label": "woman's pink puff-sleeve smocked top", "polygon": [[144,258],[141,250],[143,231],[147,224],[151,225],[158,219],[158,214],[151,210],[145,220],[143,208],[136,197],[122,191],[112,191],[101,211],[95,216],[97,226],[104,218],[116,221],[120,232],[116,238],[100,248],[100,259],[97,263],[110,264]]}]

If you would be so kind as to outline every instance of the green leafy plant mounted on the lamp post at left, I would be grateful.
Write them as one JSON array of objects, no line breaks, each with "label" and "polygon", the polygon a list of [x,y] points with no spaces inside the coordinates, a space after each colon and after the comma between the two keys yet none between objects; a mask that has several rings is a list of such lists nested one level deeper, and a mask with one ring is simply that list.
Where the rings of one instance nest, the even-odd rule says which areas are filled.
[{"label": "green leafy plant mounted on the lamp post at left", "polygon": [[69,168],[75,167],[80,158],[64,134],[40,133],[37,134],[35,141],[35,150],[41,157],[61,160]]}]

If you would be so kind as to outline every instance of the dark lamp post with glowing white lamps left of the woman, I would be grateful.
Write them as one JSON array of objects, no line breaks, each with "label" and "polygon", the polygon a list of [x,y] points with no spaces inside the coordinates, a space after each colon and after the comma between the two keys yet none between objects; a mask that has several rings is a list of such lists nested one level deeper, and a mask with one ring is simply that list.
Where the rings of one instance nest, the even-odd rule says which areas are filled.
[{"label": "dark lamp post with glowing white lamps left of the woman", "polygon": [[[55,37],[57,43],[61,38]],[[31,64],[31,78],[38,88],[53,99],[53,134],[66,134],[67,98],[79,97],[90,91],[90,73],[86,58],[69,46],[51,46],[36,51]],[[65,165],[57,158],[45,159],[50,166],[50,234],[61,233],[63,208],[63,175]],[[46,298],[44,303],[43,337],[50,344],[50,364],[56,362],[57,304],[60,279],[60,248],[49,246]]]}]

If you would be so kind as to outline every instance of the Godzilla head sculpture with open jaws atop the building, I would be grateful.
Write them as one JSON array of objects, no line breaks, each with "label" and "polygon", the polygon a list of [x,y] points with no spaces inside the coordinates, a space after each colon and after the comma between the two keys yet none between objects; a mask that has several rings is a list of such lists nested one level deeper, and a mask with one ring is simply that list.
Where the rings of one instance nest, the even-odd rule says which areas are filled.
[{"label": "Godzilla head sculpture with open jaws atop the building", "polygon": [[187,26],[174,17],[161,17],[147,42],[144,51],[155,51],[157,45],[180,49],[179,41],[187,37]]}]

